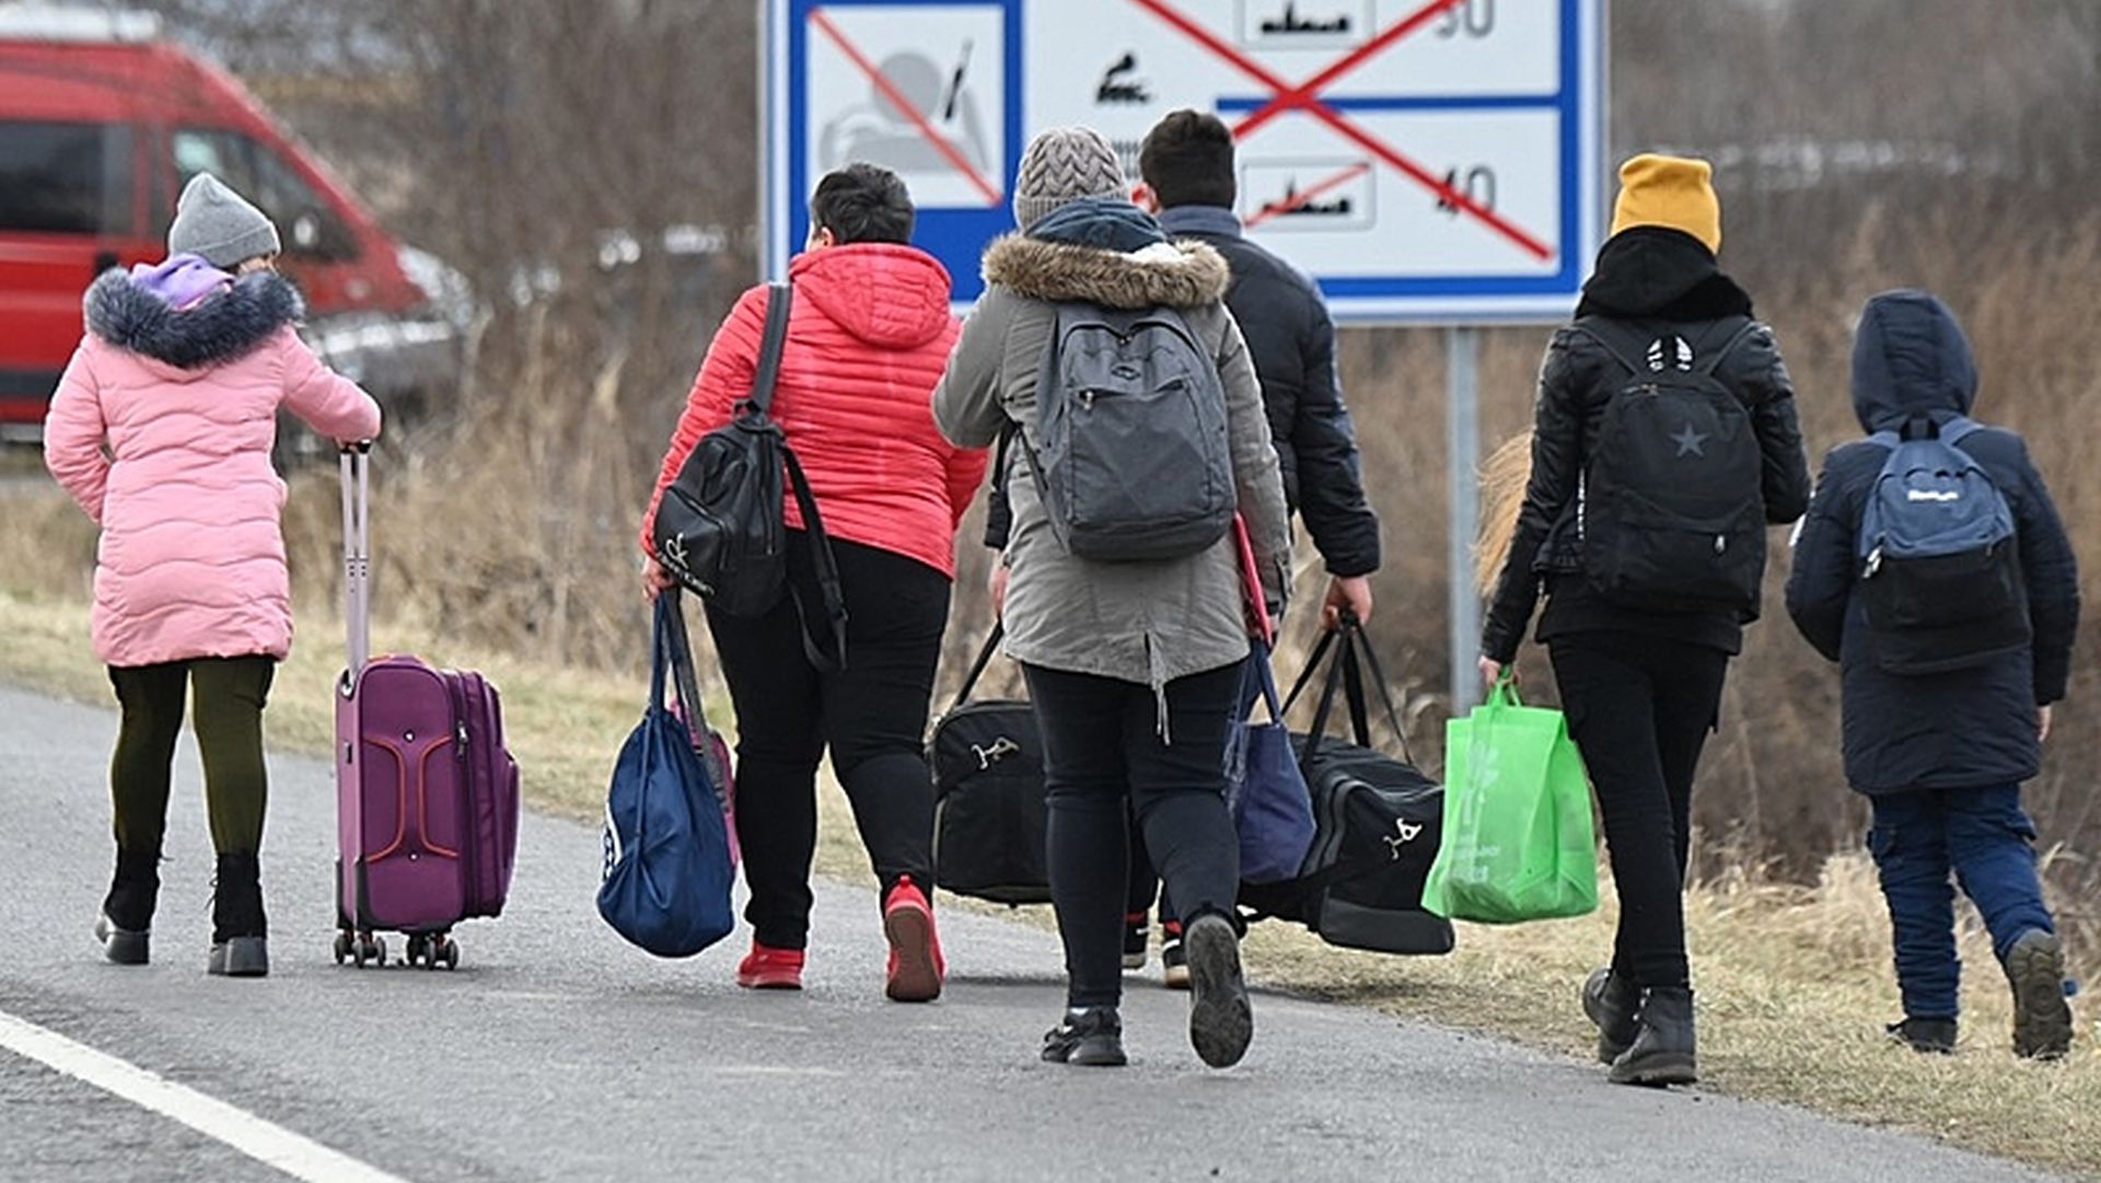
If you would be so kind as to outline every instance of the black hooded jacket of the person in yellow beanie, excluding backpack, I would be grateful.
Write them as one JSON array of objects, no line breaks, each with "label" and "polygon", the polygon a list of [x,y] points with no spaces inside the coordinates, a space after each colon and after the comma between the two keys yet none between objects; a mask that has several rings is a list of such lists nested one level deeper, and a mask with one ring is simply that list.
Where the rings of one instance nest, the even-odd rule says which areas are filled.
[{"label": "black hooded jacket of the person in yellow beanie, excluding backpack", "polygon": [[[1668,330],[1683,336],[1696,357],[1727,345],[1752,317],[1750,296],[1721,273],[1714,252],[1689,233],[1664,227],[1635,227],[1607,240],[1582,292],[1578,319],[1607,317],[1658,334]],[[1744,624],[1756,620],[1756,611],[1742,618],[1637,611],[1599,599],[1584,582],[1576,490],[1590,462],[1605,403],[1626,376],[1626,368],[1576,326],[1561,328],[1546,345],[1534,408],[1532,477],[1511,557],[1481,628],[1481,653],[1496,662],[1517,658],[1542,586],[1548,603],[1540,618],[1540,641],[1572,632],[1632,632],[1735,653],[1744,643]],[[1773,332],[1756,326],[1738,340],[1714,378],[1750,410],[1765,456],[1765,521],[1794,521],[1809,504],[1809,460],[1803,456],[1803,429],[1794,416],[1794,385]]]}]

